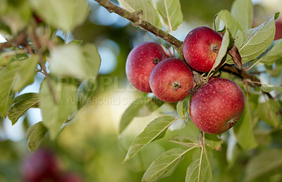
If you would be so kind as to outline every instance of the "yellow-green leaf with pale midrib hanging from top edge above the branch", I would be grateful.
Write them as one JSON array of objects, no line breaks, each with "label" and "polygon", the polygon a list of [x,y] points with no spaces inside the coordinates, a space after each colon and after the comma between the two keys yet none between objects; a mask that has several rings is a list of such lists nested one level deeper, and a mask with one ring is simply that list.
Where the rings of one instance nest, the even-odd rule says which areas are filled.
[{"label": "yellow-green leaf with pale midrib hanging from top edge above the branch", "polygon": [[166,30],[172,32],[183,20],[183,15],[179,0],[157,0],[155,1],[157,10],[163,20]]}]

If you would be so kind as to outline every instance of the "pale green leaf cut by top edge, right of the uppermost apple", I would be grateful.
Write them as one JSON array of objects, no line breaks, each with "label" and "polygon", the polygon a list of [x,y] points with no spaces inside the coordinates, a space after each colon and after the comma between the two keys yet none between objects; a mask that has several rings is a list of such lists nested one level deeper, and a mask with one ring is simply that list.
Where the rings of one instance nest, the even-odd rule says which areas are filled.
[{"label": "pale green leaf cut by top edge, right of the uppermost apple", "polygon": [[234,1],[231,7],[231,15],[240,22],[242,30],[252,27],[253,6],[251,0]]}]

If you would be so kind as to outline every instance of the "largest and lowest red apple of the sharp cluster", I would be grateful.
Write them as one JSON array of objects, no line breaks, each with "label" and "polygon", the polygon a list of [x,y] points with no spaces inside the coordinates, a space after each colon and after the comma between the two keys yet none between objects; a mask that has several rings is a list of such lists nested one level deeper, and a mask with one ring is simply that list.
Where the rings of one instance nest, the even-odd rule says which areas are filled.
[{"label": "largest and lowest red apple of the sharp cluster", "polygon": [[242,115],[245,98],[240,86],[230,79],[212,79],[192,96],[192,122],[209,134],[230,129]]}]

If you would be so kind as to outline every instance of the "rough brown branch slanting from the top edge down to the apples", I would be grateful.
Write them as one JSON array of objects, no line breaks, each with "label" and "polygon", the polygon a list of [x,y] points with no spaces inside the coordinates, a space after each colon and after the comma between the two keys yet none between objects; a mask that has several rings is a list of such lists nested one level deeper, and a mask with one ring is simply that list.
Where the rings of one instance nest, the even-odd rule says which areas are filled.
[{"label": "rough brown branch slanting from the top edge down to the apples", "polygon": [[180,41],[176,39],[176,37],[173,37],[171,34],[168,34],[167,32],[164,32],[164,30],[159,29],[158,27],[155,27],[150,22],[147,22],[141,18],[142,11],[135,11],[133,13],[130,13],[129,11],[126,11],[123,8],[120,8],[116,6],[115,4],[111,3],[109,0],[95,0],[97,1],[101,6],[104,6],[109,12],[114,12],[121,17],[130,20],[130,22],[133,22],[133,25],[136,27],[142,27],[144,30],[147,30],[151,32],[152,34],[156,35],[157,37],[160,37],[161,39],[164,39],[164,41],[167,41],[171,45],[174,46],[176,51],[178,52],[178,56],[181,60],[184,60],[183,58],[183,41]]}]

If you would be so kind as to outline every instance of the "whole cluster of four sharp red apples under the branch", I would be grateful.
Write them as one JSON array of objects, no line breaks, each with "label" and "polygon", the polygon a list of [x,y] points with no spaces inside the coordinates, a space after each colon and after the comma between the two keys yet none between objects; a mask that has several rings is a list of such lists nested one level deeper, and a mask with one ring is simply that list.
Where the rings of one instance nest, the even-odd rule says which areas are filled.
[{"label": "whole cluster of four sharp red apples under the branch", "polygon": [[[195,28],[183,42],[185,62],[170,58],[160,44],[144,42],[130,51],[126,75],[136,89],[152,92],[164,102],[176,103],[195,87],[192,70],[212,70],[221,41],[219,32],[209,27]],[[238,121],[244,106],[245,98],[238,84],[231,79],[213,77],[192,96],[190,117],[200,130],[221,134]]]}]

